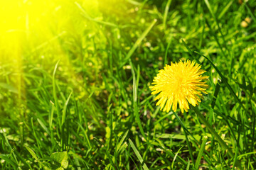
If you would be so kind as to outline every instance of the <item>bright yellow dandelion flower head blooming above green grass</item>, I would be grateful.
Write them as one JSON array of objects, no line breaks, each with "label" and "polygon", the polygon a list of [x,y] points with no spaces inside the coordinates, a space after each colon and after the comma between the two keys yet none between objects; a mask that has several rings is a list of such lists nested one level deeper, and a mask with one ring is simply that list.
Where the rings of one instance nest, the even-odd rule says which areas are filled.
[{"label": "bright yellow dandelion flower head blooming above green grass", "polygon": [[154,99],[159,100],[156,106],[160,105],[161,111],[169,112],[172,108],[173,111],[177,110],[177,104],[187,112],[189,109],[188,103],[196,106],[201,102],[202,93],[206,93],[208,85],[206,80],[208,76],[202,76],[206,72],[201,69],[200,64],[186,60],[181,60],[177,63],[171,62],[164,69],[154,77],[154,86],[149,86],[152,93],[158,94]]}]

